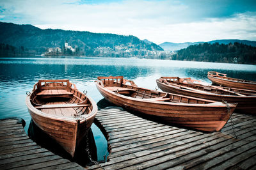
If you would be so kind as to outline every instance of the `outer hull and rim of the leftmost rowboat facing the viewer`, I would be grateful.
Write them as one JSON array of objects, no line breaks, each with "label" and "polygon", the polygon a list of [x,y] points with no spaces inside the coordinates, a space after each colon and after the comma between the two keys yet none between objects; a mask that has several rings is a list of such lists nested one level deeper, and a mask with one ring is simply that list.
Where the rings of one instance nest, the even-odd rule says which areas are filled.
[{"label": "outer hull and rim of the leftmost rowboat facing the viewer", "polygon": [[[72,92],[77,94],[76,90],[72,90]],[[33,91],[33,93],[35,93],[35,91]],[[33,93],[26,98],[26,105],[32,120],[38,128],[48,134],[56,143],[60,144],[65,151],[74,157],[76,147],[85,137],[93,123],[97,113],[97,105],[90,97],[87,97],[92,107],[90,114],[77,117],[45,114],[45,112],[36,109],[36,106],[31,104],[31,96],[33,96]],[[49,96],[47,98],[49,98]]]}]

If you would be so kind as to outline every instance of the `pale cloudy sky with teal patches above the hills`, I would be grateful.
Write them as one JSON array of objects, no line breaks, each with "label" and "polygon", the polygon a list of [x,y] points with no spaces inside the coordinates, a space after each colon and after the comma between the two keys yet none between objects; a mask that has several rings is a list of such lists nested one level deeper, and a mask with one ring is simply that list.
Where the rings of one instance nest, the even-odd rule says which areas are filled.
[{"label": "pale cloudy sky with teal patches above the hills", "polygon": [[256,40],[256,1],[0,0],[0,21],[134,35],[157,44]]}]

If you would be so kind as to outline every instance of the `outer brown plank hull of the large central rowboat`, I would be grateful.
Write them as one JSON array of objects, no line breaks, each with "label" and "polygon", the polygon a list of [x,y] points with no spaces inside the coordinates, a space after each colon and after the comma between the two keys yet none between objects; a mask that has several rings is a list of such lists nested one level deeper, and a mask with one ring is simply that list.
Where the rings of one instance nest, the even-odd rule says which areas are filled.
[{"label": "outer brown plank hull of the large central rowboat", "polygon": [[143,99],[125,97],[100,86],[96,82],[97,89],[101,95],[109,102],[124,107],[129,111],[141,112],[143,114],[157,116],[164,122],[177,126],[193,128],[205,132],[220,130],[228,119],[236,104],[230,104],[230,113],[227,112],[226,105],[207,104],[180,104],[145,101]]}]

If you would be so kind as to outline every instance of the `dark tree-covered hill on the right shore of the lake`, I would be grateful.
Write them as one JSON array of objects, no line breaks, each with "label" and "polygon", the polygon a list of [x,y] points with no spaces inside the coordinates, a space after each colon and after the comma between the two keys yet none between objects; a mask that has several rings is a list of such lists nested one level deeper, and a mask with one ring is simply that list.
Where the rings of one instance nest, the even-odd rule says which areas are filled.
[{"label": "dark tree-covered hill on the right shore of the lake", "polygon": [[256,64],[256,47],[243,43],[200,43],[173,55],[175,60]]}]

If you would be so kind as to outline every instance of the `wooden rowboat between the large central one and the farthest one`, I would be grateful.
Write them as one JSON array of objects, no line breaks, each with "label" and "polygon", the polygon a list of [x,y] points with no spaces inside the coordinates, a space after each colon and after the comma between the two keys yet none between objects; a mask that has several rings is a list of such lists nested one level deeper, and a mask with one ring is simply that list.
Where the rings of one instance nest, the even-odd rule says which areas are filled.
[{"label": "wooden rowboat between the large central one and the farthest one", "polygon": [[161,90],[168,93],[238,103],[235,112],[256,114],[256,91],[211,86],[191,78],[161,77],[156,82]]}]

